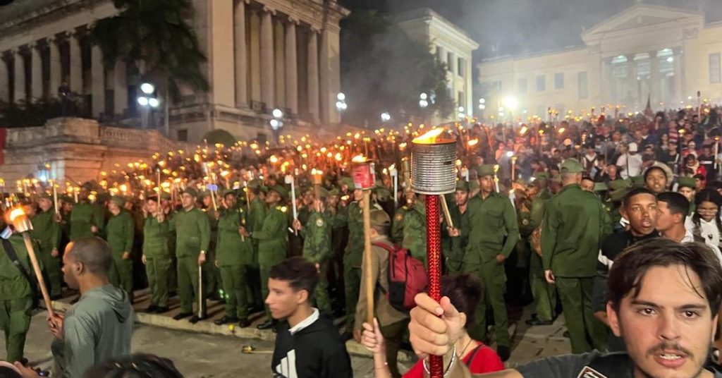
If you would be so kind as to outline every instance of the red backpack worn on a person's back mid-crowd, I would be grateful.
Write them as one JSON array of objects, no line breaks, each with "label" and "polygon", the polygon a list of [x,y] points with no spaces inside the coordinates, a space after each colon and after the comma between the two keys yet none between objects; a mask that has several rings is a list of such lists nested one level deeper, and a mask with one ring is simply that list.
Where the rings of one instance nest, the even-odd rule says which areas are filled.
[{"label": "red backpack worn on a person's back mid-crowd", "polygon": [[429,285],[424,263],[412,257],[408,249],[378,242],[373,245],[388,251],[388,293],[379,285],[380,291],[394,309],[409,312],[416,306],[414,296]]}]

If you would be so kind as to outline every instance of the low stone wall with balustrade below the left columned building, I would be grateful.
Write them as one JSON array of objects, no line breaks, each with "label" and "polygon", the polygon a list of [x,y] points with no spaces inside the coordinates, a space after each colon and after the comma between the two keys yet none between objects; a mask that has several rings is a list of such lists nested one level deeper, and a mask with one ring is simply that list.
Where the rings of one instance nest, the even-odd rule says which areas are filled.
[{"label": "low stone wall with balustrade below the left columned building", "polygon": [[116,163],[149,161],[155,152],[176,148],[156,130],[101,126],[92,119],[51,119],[45,126],[7,130],[0,177],[12,187],[18,179],[40,179],[43,166],[50,163],[52,178],[83,182],[97,179]]}]

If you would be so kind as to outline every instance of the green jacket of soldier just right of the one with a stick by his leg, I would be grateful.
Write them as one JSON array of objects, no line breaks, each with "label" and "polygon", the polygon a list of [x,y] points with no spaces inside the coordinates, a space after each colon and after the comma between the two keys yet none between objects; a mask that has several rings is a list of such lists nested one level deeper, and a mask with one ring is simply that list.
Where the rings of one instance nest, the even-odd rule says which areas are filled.
[{"label": "green jacket of soldier just right of the one with a stick by his leg", "polygon": [[245,227],[243,207],[221,210],[218,218],[216,259],[219,267],[250,265],[253,263],[253,241],[241,237],[238,228]]}]

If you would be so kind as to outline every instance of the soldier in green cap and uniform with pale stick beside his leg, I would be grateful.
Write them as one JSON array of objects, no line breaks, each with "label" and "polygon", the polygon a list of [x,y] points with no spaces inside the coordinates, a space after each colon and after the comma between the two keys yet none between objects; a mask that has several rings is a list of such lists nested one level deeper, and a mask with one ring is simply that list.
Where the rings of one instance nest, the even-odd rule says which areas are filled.
[{"label": "soldier in green cap and uniform with pale stick beside his leg", "polygon": [[[193,314],[193,294],[203,296],[198,287],[198,267],[206,263],[206,254],[211,244],[211,225],[208,215],[196,207],[198,191],[186,189],[181,196],[183,209],[171,220],[171,229],[175,230],[175,256],[178,257],[178,298],[181,300],[181,312],[173,319],[191,317],[189,322],[201,320]],[[205,283],[205,282],[204,282]]]}]

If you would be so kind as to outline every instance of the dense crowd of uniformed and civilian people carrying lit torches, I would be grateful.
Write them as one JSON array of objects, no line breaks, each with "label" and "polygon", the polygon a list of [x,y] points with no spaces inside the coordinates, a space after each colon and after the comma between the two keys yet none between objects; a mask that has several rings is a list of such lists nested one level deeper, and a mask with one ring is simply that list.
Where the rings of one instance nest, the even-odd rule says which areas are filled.
[{"label": "dense crowd of uniformed and civilian people carrying lit torches", "polygon": [[[170,151],[149,163],[117,166],[77,189],[69,185],[65,194],[56,194],[59,185],[52,181],[48,187],[19,181],[18,193],[4,199],[6,210],[22,206],[30,215],[51,297],[81,294],[64,317],[48,319],[60,376],[83,377],[92,366],[118,358],[118,366],[133,358],[168,366],[159,358],[128,357],[134,292],[147,286],[150,300],[142,311],[173,312],[170,298],[177,295],[177,321],[203,321],[206,300],[224,303],[217,325],[251,327],[251,314],[264,312],[256,327],[277,332],[274,377],[351,377],[343,344],[350,338],[374,353],[376,377],[401,377],[396,356],[407,330],[414,342],[414,312],[440,313],[425,304],[409,314],[388,296],[389,259],[405,249],[426,264],[428,227],[442,233],[442,291],[453,304],[443,302],[442,311],[453,313],[456,327],[448,345],[454,361],[472,374],[503,369],[512,353],[508,306],[531,302],[535,311],[526,324],[551,325],[564,314],[573,353],[626,350],[635,358],[625,337],[630,334],[620,330],[620,306],[647,314],[662,305],[656,298],[626,304],[631,290],[640,298],[643,290],[629,276],[619,277],[615,267],[623,251],[696,241],[708,249],[684,247],[690,254],[711,251],[715,269],[722,260],[719,117],[718,109],[705,107],[617,119],[592,111],[563,121],[449,125],[457,141],[458,181],[445,199],[449,219],[432,224],[426,196],[414,194],[404,179],[412,138],[425,131],[422,125],[378,129],[373,137],[349,133],[325,144],[282,137],[274,146]],[[350,176],[356,155],[375,161],[367,204],[370,271],[363,253],[364,193]],[[35,278],[22,237],[9,226],[2,236],[9,241],[0,254],[0,272],[7,272],[0,275],[6,360],[17,361],[24,377],[37,376],[23,367],[38,297]],[[647,240],[660,238],[666,241]],[[675,261],[658,265],[683,263]],[[373,324],[366,322],[367,275],[374,283]],[[627,283],[634,288],[620,286]],[[705,287],[711,314],[719,306],[719,298],[709,298],[715,290],[719,296],[722,288]],[[331,319],[344,316],[339,330]],[[92,337],[101,331],[113,341]],[[326,342],[319,346],[321,339]],[[679,345],[669,349],[659,351],[670,366],[677,357],[699,357],[679,352]],[[414,351],[432,352],[417,345]],[[404,377],[422,377],[424,364],[422,358]],[[569,375],[527,371],[521,370],[523,377]]]}]

